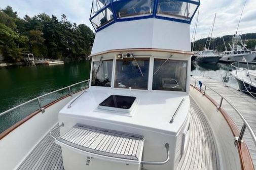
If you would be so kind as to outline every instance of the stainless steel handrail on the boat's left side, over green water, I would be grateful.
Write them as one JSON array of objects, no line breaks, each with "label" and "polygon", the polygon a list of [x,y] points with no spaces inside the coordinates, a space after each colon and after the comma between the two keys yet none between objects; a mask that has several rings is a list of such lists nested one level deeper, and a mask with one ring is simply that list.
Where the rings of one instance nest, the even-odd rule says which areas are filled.
[{"label": "stainless steel handrail on the boat's left side, over green water", "polygon": [[[27,104],[27,103],[30,103],[30,102],[32,102],[32,101],[34,101],[34,100],[38,100],[39,107],[40,107],[40,109],[42,110],[42,109],[44,109],[44,108],[41,106],[40,98],[45,97],[45,96],[48,96],[48,95],[50,95],[50,94],[52,94],[52,93],[56,93],[56,92],[61,91],[61,90],[70,89],[70,87],[73,87],[73,86],[76,86],[76,85],[78,85],[78,84],[82,84],[82,83],[85,83],[85,82],[89,82],[89,80],[90,80],[90,79],[84,80],[84,81],[81,81],[81,82],[72,84],[72,85],[70,85],[70,86],[63,87],[63,88],[61,88],[61,89],[52,91],[52,92],[50,92],[50,93],[41,95],[41,96],[39,96],[39,97],[33,98],[33,99],[31,99],[31,100],[28,100],[28,101],[26,101],[26,102],[24,102],[24,103],[22,103],[22,104],[19,104],[19,105],[13,107],[13,108],[10,108],[9,110],[6,110],[6,111],[2,112],[2,113],[0,114],[0,116],[3,116],[3,115],[5,115],[5,114],[7,114],[8,112],[10,112],[10,111],[12,111],[12,110],[14,110],[14,109],[16,109],[16,108],[19,108],[19,107],[21,107],[21,106],[23,106],[23,105],[25,105],[25,104]],[[72,93],[71,93],[70,90],[69,90],[69,94],[70,94],[70,96],[72,95]]]}]

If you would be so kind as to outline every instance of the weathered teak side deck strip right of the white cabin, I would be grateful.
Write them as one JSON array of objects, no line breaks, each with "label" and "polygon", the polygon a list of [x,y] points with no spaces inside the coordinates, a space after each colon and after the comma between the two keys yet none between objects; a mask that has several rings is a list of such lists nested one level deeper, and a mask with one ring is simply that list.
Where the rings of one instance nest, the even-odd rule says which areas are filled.
[{"label": "weathered teak side deck strip right of the white cabin", "polygon": [[190,139],[176,170],[220,169],[216,143],[201,109],[190,98]]}]

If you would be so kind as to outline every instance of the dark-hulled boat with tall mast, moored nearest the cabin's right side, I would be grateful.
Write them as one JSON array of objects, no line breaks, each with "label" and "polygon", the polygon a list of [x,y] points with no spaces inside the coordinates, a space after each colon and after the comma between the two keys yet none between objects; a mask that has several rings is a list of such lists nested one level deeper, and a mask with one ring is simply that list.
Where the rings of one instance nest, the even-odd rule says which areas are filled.
[{"label": "dark-hulled boat with tall mast, moored nearest the cabin's right side", "polygon": [[[209,35],[211,33],[211,36],[210,36],[209,39],[207,38],[206,43],[204,45],[204,50],[198,52],[198,55],[197,55],[197,58],[196,58],[197,62],[216,64],[220,60],[219,56],[215,54],[215,51],[209,49],[210,44],[211,44],[211,37],[212,37],[212,32],[213,32],[213,28],[214,28],[215,19],[216,19],[216,14],[214,16],[214,20],[213,20],[213,23],[212,23],[212,26],[211,26],[211,29],[210,29],[210,32],[209,32]],[[207,45],[208,41],[209,41],[209,45],[208,45],[208,48],[206,48],[206,45]]]}]

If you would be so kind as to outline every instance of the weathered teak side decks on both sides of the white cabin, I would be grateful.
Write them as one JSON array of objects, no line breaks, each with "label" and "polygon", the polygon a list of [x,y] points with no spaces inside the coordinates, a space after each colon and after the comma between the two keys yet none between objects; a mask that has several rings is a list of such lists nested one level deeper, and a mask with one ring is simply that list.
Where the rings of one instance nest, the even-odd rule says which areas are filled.
[{"label": "weathered teak side decks on both sides of the white cabin", "polygon": [[[191,98],[191,127],[188,149],[181,157],[177,170],[220,169],[216,144],[203,112]],[[59,136],[59,130],[53,132]],[[147,140],[147,139],[145,139]],[[18,168],[63,170],[61,148],[46,135]]]}]

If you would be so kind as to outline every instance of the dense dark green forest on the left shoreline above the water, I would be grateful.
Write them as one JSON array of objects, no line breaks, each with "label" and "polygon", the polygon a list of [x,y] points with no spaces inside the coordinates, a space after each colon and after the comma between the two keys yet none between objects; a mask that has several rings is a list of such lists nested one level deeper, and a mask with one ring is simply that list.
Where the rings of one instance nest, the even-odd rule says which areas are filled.
[{"label": "dense dark green forest on the left shoreline above the water", "polygon": [[76,60],[91,52],[95,34],[85,24],[77,25],[62,14],[61,20],[45,13],[19,18],[12,7],[0,9],[0,57],[19,62],[27,53],[38,58]]}]

